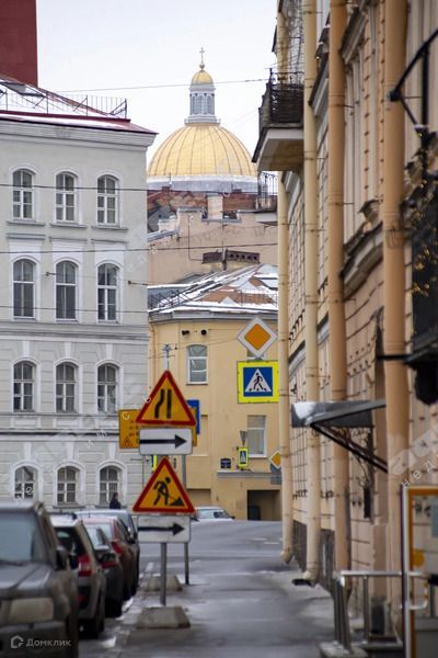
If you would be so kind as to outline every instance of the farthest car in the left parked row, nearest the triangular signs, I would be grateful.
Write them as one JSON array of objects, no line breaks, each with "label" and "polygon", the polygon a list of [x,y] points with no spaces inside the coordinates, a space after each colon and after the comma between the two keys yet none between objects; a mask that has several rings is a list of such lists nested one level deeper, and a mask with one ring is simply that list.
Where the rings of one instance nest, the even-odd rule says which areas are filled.
[{"label": "farthest car in the left parked row, nearest the triangular signs", "polygon": [[137,564],[136,554],[132,551],[132,544],[129,542],[128,532],[125,524],[117,517],[82,517],[87,529],[90,526],[102,527],[106,536],[111,541],[113,551],[118,556],[124,572],[124,590],[123,598],[125,601],[130,599],[135,593]]}]

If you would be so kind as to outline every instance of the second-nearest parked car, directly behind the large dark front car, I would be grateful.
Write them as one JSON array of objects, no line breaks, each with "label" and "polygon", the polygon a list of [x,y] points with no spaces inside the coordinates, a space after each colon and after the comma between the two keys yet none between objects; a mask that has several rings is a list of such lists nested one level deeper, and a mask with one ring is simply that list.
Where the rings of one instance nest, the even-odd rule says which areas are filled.
[{"label": "second-nearest parked car, directly behind the large dark front car", "polygon": [[72,514],[50,514],[59,542],[77,558],[79,622],[89,637],[105,628],[105,574],[81,519]]}]

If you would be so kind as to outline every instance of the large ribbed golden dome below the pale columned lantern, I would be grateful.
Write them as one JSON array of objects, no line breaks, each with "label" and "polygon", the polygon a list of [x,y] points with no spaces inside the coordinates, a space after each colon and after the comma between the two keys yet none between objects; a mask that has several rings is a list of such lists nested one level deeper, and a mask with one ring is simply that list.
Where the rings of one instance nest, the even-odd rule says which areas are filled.
[{"label": "large ribbed golden dome below the pale columned lantern", "polygon": [[148,177],[174,175],[257,174],[235,135],[217,124],[198,123],[172,133],[151,160]]}]

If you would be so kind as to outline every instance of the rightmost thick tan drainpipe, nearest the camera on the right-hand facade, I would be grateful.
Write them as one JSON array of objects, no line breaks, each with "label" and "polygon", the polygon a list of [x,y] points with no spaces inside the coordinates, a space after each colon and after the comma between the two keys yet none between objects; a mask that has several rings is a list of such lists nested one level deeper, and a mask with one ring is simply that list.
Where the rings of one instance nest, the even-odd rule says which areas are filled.
[{"label": "rightmost thick tan drainpipe, nearest the camera on the right-hand facade", "polygon": [[[404,112],[402,103],[391,103],[389,91],[405,68],[406,1],[387,0],[384,15],[384,118],[383,118],[383,344],[385,354],[405,350],[405,262],[404,240],[400,230],[400,203],[404,179]],[[406,366],[401,361],[384,362],[388,449],[388,568],[401,568],[400,486],[403,475],[391,465],[408,447],[408,406]],[[400,587],[392,583],[394,619],[401,600]]]}]

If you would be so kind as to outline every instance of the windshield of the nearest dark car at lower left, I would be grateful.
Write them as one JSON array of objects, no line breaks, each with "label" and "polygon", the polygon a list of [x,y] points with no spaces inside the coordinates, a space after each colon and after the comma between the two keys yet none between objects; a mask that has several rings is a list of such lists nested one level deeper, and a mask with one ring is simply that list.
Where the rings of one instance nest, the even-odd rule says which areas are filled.
[{"label": "windshield of the nearest dark car at lower left", "polygon": [[33,514],[0,514],[0,563],[46,561],[41,530]]}]

